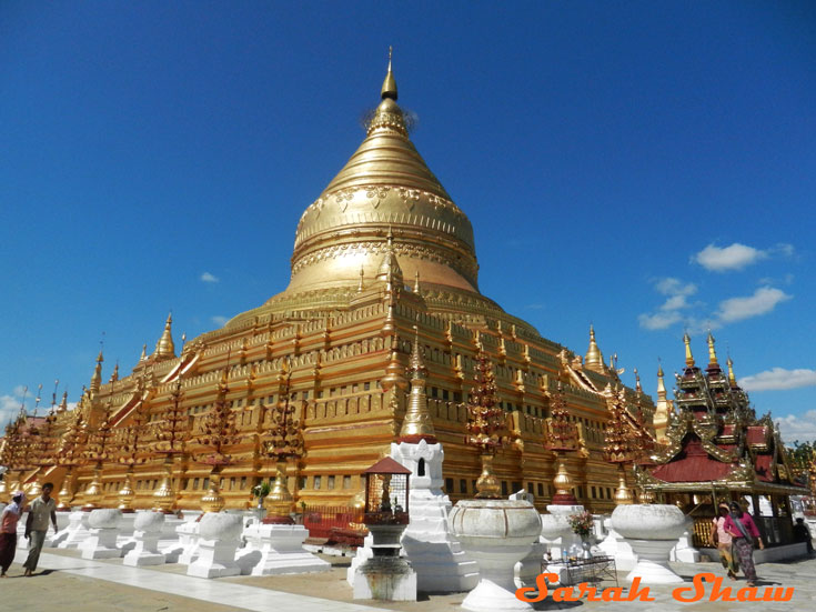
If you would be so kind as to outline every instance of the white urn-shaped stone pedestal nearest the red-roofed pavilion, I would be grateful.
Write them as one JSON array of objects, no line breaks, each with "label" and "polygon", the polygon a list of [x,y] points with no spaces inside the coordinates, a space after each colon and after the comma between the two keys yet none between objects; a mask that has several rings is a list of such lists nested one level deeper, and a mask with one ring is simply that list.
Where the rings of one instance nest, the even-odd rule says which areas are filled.
[{"label": "white urn-shaped stone pedestal nearest the red-roofed pavilion", "polygon": [[668,552],[686,529],[686,516],[676,505],[618,505],[612,526],[632,546],[637,563],[626,576],[644,584],[672,584],[683,579],[668,568]]}]

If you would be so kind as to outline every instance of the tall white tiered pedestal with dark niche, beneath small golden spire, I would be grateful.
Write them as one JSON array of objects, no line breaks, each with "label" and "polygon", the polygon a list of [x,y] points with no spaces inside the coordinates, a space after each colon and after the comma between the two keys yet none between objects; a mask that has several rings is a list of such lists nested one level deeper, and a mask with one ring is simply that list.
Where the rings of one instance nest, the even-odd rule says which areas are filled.
[{"label": "tall white tiered pedestal with dark niche, beneath small golden spire", "polygon": [[417,589],[430,593],[470,591],[478,582],[478,566],[462,550],[447,524],[452,504],[442,492],[442,444],[429,444],[425,440],[392,443],[391,457],[411,470],[411,523],[402,536],[402,546],[416,572]]}]

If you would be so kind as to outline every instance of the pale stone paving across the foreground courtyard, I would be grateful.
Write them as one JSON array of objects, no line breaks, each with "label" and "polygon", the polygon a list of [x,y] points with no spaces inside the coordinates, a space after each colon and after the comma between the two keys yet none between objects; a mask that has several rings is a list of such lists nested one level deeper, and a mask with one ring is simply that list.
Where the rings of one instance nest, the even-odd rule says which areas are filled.
[{"label": "pale stone paving across the foreground courtyard", "polygon": [[[84,561],[75,551],[43,553],[41,566],[47,575],[33,579],[9,579],[0,581],[0,595],[6,602],[22,604],[23,610],[48,610],[56,604],[61,612],[109,612],[109,611],[162,611],[181,612],[453,612],[460,610],[464,593],[450,595],[420,595],[417,602],[355,602],[351,586],[345,582],[349,558],[323,559],[334,568],[322,574],[288,576],[235,576],[205,580],[184,575],[185,568],[165,564],[154,568],[127,568],[121,560]],[[20,561],[20,560],[18,560]],[[709,572],[723,578],[722,588],[732,588],[732,595],[745,586],[744,580],[732,582],[717,563],[673,563],[672,568],[688,580]],[[12,575],[22,573],[17,565]],[[793,588],[794,594],[787,602],[711,601],[712,584],[705,584],[705,595],[697,602],[683,603],[673,596],[677,585],[649,589],[655,601],[556,602],[551,595],[535,604],[536,610],[576,609],[583,612],[674,612],[712,611],[745,612],[746,610],[769,612],[799,612],[816,610],[816,559],[788,563],[766,563],[758,566],[759,594],[766,586]],[[625,573],[619,573],[621,585]],[[70,580],[69,580],[70,579]],[[73,581],[71,583],[71,580]],[[67,582],[68,581],[68,582]],[[23,585],[26,586],[23,589]],[[600,586],[614,586],[605,581]],[[9,589],[10,588],[10,589]],[[623,589],[623,593],[627,593]]]}]

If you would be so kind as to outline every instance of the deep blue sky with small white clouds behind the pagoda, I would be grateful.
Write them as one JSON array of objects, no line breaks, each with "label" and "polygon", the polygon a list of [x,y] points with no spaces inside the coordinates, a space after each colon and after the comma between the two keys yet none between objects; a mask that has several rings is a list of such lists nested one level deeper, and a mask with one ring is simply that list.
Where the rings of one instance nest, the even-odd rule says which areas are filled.
[{"label": "deep blue sky with small white clouds behind the pagoda", "polygon": [[3,2],[0,420],[284,289],[389,44],[483,293],[651,393],[711,327],[816,439],[808,2]]}]

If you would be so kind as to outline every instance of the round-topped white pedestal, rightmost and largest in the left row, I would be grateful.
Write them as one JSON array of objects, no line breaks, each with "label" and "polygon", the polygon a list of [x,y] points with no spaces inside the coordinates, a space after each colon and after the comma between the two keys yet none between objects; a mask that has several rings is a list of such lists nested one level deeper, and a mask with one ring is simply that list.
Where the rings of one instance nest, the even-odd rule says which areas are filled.
[{"label": "round-topped white pedestal, rightmost and largest in the left row", "polygon": [[199,556],[187,569],[188,575],[222,578],[239,575],[235,563],[243,518],[239,514],[208,512],[199,524]]}]

